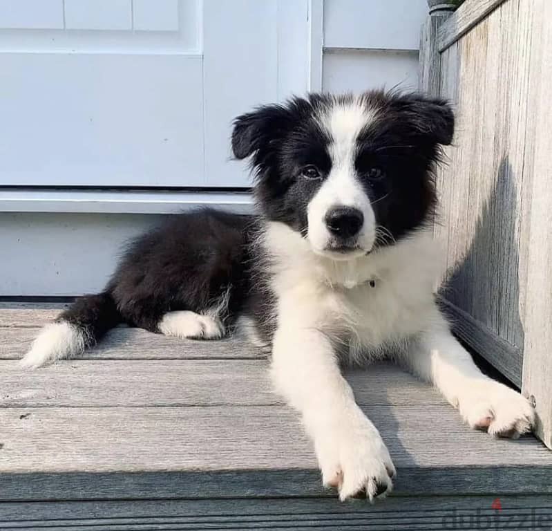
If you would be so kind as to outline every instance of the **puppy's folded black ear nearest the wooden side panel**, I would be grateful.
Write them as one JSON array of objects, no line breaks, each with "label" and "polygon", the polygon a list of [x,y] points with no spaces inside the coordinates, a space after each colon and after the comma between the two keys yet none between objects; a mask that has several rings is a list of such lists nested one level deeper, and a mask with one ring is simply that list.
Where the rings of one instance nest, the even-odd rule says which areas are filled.
[{"label": "puppy's folded black ear nearest the wooden side panel", "polygon": [[455,117],[446,100],[422,94],[399,97],[401,111],[414,129],[435,144],[450,145],[453,141]]}]

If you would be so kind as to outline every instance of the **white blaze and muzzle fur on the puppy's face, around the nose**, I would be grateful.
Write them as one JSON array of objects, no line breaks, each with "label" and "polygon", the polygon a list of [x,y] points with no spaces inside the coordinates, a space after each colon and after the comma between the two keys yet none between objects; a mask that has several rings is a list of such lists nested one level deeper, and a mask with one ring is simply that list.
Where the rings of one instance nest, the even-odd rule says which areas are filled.
[{"label": "white blaze and muzzle fur on the puppy's face, around the nose", "polygon": [[[336,104],[320,118],[321,126],[330,134],[329,145],[332,169],[318,192],[307,207],[308,239],[314,252],[341,259],[339,253],[328,249],[332,235],[327,230],[325,216],[332,207],[354,207],[364,216],[359,232],[357,255],[366,254],[372,249],[376,239],[376,218],[361,183],[356,178],[354,159],[356,138],[367,124],[374,119],[374,112],[366,109],[365,104],[353,100],[350,104]],[[354,254],[348,254],[350,259]]]}]

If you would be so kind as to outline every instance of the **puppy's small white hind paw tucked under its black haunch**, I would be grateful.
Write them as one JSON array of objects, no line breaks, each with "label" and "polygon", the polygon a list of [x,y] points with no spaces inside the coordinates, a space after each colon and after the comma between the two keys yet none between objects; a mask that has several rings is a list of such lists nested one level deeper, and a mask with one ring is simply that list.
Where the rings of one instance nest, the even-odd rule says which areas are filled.
[{"label": "puppy's small white hind paw tucked under its black haunch", "polygon": [[220,339],[225,335],[225,328],[218,317],[187,310],[166,313],[158,326],[162,334],[175,337]]}]

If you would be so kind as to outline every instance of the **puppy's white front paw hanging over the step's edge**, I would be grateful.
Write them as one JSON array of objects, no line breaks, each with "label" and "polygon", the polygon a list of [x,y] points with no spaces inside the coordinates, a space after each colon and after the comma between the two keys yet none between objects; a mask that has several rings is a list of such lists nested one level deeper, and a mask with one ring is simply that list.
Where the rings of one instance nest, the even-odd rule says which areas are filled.
[{"label": "puppy's white front paw hanging over the step's edge", "polygon": [[367,418],[321,441],[316,451],[322,481],[337,487],[341,501],[365,494],[372,502],[391,492],[397,472],[379,431]]}]

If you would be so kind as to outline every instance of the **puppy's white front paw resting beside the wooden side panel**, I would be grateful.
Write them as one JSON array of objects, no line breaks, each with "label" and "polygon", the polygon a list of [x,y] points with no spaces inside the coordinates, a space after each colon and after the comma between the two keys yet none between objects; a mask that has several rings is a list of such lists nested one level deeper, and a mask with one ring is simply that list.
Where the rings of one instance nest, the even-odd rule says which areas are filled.
[{"label": "puppy's white front paw resting beside the wooden side panel", "polygon": [[531,431],[535,411],[520,393],[494,380],[474,382],[458,398],[464,421],[489,434],[517,438]]}]

